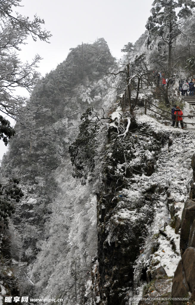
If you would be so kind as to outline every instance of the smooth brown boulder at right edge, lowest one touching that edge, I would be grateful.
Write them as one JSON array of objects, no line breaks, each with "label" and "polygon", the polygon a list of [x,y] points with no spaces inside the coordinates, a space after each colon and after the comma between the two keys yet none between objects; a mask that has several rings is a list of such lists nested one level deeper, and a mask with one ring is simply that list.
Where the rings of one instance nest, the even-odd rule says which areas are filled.
[{"label": "smooth brown boulder at right edge, lowest one touching that edge", "polygon": [[193,292],[195,289],[195,248],[186,249],[182,256],[182,262],[190,291]]}]

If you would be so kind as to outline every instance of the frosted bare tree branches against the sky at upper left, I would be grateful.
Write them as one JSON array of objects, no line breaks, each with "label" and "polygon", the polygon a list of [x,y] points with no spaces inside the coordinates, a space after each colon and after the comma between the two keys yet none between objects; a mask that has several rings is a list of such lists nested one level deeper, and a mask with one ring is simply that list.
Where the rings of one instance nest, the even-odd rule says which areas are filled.
[{"label": "frosted bare tree branches against the sky at upper left", "polygon": [[16,50],[20,51],[21,45],[26,44],[29,34],[34,41],[39,38],[48,42],[51,37],[50,32],[41,29],[44,20],[36,15],[33,21],[19,13],[12,15],[13,7],[20,6],[20,2],[21,0],[0,2],[0,109],[16,120],[24,119],[23,106],[27,99],[15,95],[14,88],[21,87],[32,92],[40,78],[40,73],[35,68],[41,60],[37,54],[32,63],[22,63]]}]

